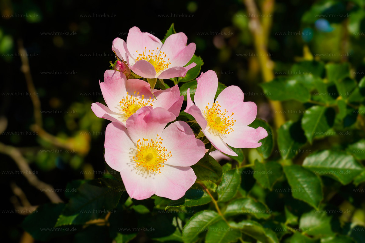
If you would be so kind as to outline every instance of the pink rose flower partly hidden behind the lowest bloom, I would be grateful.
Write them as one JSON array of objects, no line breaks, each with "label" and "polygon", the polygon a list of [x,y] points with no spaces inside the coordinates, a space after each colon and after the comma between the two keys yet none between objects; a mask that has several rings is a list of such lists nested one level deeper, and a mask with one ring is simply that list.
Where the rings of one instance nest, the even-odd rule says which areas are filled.
[{"label": "pink rose flower partly hidden behind the lowest bloom", "polygon": [[162,107],[175,119],[184,101],[177,85],[166,90],[153,90],[152,93],[149,83],[141,79],[127,80],[122,72],[114,70],[105,71],[100,89],[107,106],[96,102],[91,109],[97,117],[120,122],[124,126],[127,119],[143,106]]}]

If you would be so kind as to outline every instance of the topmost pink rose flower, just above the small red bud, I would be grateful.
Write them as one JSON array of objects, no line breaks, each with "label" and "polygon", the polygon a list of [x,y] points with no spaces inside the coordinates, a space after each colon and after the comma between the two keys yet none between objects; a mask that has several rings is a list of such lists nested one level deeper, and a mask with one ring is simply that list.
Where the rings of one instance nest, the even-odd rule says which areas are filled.
[{"label": "topmost pink rose flower, just above the small red bud", "polygon": [[115,38],[112,50],[119,59],[128,63],[135,74],[143,78],[175,78],[184,77],[195,63],[184,67],[193,57],[195,43],[187,46],[187,36],[180,32],[170,35],[165,43],[154,35],[141,32],[132,27],[127,36],[127,43]]}]

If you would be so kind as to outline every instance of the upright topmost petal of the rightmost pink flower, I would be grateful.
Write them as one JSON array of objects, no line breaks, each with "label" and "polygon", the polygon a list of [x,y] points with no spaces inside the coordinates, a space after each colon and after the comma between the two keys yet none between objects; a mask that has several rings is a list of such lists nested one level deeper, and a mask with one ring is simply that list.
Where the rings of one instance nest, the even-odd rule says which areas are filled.
[{"label": "upright topmost petal of the rightmost pink flower", "polygon": [[214,71],[209,70],[205,73],[202,72],[196,81],[198,85],[194,95],[194,102],[200,110],[204,111],[208,103],[210,104],[209,107],[214,103],[214,97],[218,89],[218,77]]}]

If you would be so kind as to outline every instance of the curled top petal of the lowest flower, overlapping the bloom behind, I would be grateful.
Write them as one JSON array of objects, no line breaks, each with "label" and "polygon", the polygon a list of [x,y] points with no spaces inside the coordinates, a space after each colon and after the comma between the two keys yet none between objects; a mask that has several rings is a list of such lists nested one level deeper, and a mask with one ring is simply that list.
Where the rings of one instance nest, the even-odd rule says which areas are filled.
[{"label": "curled top petal of the lowest flower, overlapping the bloom behind", "polygon": [[155,140],[174,119],[176,117],[164,108],[144,106],[127,119],[126,126],[133,142],[142,138]]}]

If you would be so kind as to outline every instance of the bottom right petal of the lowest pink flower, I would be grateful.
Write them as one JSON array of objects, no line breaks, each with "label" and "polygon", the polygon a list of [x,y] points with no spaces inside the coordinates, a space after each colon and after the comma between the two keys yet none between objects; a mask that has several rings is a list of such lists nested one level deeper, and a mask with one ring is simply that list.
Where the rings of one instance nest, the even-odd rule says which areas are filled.
[{"label": "bottom right petal of the lowest pink flower", "polygon": [[177,200],[195,183],[196,175],[191,167],[165,165],[155,175],[156,192],[160,197]]}]

